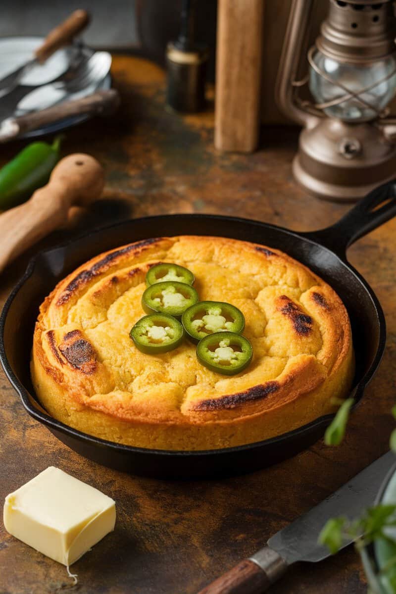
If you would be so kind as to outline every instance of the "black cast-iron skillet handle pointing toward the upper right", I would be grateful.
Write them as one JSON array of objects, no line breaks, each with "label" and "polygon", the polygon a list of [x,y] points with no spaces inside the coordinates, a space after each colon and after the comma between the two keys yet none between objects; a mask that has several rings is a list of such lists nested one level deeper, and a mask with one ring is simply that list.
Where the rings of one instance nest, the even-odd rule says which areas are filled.
[{"label": "black cast-iron skillet handle pointing toward the upper right", "polygon": [[357,239],[396,216],[396,178],[373,189],[337,223],[305,237],[330,248],[343,260],[346,249]]}]

